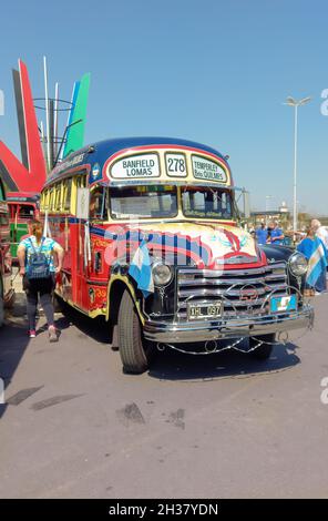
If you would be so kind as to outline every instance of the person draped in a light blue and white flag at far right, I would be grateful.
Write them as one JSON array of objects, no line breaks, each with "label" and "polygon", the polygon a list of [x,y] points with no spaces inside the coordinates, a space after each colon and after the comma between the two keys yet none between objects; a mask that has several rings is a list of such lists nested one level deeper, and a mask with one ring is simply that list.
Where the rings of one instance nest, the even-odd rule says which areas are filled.
[{"label": "person draped in a light blue and white flag at far right", "polygon": [[307,236],[298,244],[297,251],[308,259],[308,270],[305,282],[305,295],[312,296],[327,288],[327,249],[322,241],[315,235],[312,226],[307,229]]}]

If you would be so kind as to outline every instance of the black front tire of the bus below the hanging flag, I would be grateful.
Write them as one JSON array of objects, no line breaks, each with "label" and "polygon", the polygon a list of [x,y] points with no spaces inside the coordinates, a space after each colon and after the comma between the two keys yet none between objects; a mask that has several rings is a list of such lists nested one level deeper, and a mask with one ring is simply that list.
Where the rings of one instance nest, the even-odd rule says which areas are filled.
[{"label": "black front tire of the bus below the hanging flag", "polygon": [[142,327],[130,292],[122,296],[119,318],[119,350],[126,374],[140,375],[148,369],[153,346],[143,339]]}]

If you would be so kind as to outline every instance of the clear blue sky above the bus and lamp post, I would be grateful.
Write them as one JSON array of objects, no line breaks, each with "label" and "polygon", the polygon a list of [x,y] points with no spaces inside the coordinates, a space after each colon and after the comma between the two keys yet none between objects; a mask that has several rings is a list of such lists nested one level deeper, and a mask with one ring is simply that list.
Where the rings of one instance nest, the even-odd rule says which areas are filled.
[{"label": "clear blue sky above the bus and lamp post", "polygon": [[299,110],[298,201],[328,214],[327,0],[3,1],[0,139],[20,154],[11,69],[22,58],[34,96],[51,84],[71,98],[91,72],[85,142],[177,136],[229,154],[254,208],[291,203],[294,110]]}]

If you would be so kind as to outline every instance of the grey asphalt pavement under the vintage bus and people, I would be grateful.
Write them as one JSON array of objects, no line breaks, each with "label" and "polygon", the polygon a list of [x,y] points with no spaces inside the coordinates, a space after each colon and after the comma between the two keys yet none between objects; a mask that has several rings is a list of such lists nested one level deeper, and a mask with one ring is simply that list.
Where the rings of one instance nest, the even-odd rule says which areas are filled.
[{"label": "grey asphalt pavement under the vintage bus and people", "polygon": [[141,376],[102,323],[58,315],[58,344],[28,340],[18,305],[0,331],[0,497],[327,498],[328,295],[315,305],[315,329],[266,362],[170,351]]}]

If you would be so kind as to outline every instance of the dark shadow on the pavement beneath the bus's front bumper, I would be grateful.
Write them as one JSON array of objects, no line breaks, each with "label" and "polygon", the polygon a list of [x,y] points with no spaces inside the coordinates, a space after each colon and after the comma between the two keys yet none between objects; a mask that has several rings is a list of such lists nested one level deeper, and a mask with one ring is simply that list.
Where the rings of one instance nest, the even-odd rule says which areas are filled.
[{"label": "dark shadow on the pavement beneath the bus's front bumper", "polygon": [[294,344],[275,346],[267,360],[258,360],[246,353],[246,341],[238,347],[244,347],[245,353],[229,349],[209,355],[186,355],[166,348],[156,355],[148,376],[161,380],[247,378],[291,369],[300,364]]}]

